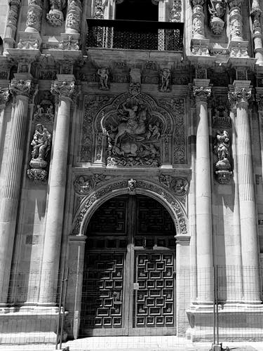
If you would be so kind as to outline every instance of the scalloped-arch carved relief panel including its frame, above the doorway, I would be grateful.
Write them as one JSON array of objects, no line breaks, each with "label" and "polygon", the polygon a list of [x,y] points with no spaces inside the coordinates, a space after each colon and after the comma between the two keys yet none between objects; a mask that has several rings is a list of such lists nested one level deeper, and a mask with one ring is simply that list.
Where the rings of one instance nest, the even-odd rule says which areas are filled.
[{"label": "scalloped-arch carved relief panel including its frame, above the doorway", "polygon": [[121,94],[97,114],[95,159],[103,163],[105,152],[108,167],[172,164],[173,130],[171,115],[149,95]]}]

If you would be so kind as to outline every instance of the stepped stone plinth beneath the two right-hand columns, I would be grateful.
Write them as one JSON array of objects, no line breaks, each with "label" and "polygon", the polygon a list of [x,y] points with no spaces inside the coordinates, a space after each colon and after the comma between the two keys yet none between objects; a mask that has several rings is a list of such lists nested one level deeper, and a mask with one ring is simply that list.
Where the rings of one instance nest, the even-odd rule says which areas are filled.
[{"label": "stepped stone plinth beneath the two right-hand columns", "polygon": [[[187,338],[193,342],[213,342],[213,305],[192,304],[187,310],[190,327]],[[224,303],[218,306],[220,340],[262,341],[263,305]]]}]

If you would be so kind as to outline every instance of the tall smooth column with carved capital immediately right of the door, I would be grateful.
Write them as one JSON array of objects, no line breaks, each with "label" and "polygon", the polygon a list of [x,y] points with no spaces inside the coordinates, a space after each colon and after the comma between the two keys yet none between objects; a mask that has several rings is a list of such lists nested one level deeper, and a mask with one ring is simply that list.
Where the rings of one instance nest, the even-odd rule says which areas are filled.
[{"label": "tall smooth column with carved capital immediately right of the door", "polygon": [[213,301],[212,210],[207,107],[211,88],[208,86],[209,79],[194,79],[194,84],[194,97],[196,98],[197,303],[203,304]]}]

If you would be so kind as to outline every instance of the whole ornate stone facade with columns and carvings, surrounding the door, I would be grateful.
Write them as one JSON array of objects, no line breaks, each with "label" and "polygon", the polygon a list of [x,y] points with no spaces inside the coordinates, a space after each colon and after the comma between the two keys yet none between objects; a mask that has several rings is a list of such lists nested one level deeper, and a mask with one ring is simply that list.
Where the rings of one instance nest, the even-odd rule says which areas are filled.
[{"label": "whole ornate stone facade with columns and carvings, surrounding the door", "polygon": [[259,340],[263,2],[149,1],[159,22],[140,44],[87,25],[117,21],[126,1],[0,0],[0,333],[53,342],[69,267],[63,333],[79,338],[88,223],[140,195],[175,227],[173,333],[211,340],[224,267],[222,335]]}]

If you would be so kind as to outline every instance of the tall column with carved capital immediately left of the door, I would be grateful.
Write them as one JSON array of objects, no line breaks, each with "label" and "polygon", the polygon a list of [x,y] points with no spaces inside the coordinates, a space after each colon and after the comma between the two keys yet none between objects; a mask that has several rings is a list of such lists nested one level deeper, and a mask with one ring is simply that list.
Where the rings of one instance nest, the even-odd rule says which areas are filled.
[{"label": "tall column with carved capital immediately left of the door", "polygon": [[69,121],[72,99],[75,97],[74,77],[65,76],[67,81],[55,81],[51,92],[58,100],[55,124],[53,158],[50,168],[46,232],[43,247],[39,304],[54,305],[58,288],[58,267],[62,236],[67,154],[69,143]]}]

